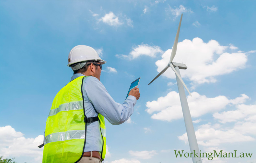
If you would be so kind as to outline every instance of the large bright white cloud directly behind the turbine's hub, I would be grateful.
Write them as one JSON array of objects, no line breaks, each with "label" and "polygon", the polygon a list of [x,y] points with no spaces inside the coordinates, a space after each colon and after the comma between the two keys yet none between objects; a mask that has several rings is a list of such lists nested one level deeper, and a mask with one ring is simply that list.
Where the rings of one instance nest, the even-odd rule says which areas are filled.
[{"label": "large bright white cloud directly behind the turbine's hub", "polygon": [[[178,43],[174,62],[186,64],[188,69],[181,70],[181,77],[188,78],[192,85],[216,82],[215,76],[224,75],[245,68],[247,56],[242,52],[227,53],[227,46],[221,46],[215,40],[204,43],[201,38],[183,40]],[[156,62],[157,72],[161,72],[168,64],[171,49],[168,49],[162,59]],[[176,79],[175,73],[169,68],[162,76]]]}]

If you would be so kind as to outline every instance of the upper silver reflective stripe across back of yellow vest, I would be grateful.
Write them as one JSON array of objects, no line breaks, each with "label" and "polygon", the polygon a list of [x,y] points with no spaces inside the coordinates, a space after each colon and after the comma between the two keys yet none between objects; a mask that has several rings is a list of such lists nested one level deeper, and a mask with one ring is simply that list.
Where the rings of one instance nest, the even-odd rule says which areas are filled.
[{"label": "upper silver reflective stripe across back of yellow vest", "polygon": [[83,101],[72,101],[70,103],[61,104],[59,107],[50,110],[48,117],[54,116],[60,111],[79,110],[84,109]]}]

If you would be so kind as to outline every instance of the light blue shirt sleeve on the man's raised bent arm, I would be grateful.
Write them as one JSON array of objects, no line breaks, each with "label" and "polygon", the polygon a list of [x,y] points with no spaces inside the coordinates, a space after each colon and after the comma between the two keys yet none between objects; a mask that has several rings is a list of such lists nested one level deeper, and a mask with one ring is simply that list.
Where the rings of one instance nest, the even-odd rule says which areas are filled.
[{"label": "light blue shirt sleeve on the man's raised bent arm", "polygon": [[84,80],[83,90],[96,111],[113,125],[122,124],[133,114],[136,97],[128,96],[123,104],[119,104],[96,77],[88,76]]}]

